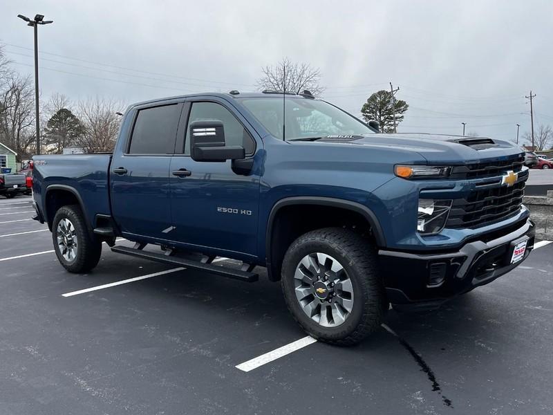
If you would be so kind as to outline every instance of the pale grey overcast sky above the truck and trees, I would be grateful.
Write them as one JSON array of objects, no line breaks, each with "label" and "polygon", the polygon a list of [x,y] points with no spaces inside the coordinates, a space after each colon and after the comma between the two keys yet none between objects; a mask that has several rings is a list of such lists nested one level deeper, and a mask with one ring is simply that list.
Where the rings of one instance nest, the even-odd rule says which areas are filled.
[{"label": "pale grey overcast sky above the truck and trees", "polygon": [[553,1],[3,1],[0,42],[32,73],[40,13],[44,98],[134,102],[199,91],[252,91],[287,56],[318,67],[325,99],[359,114],[400,86],[399,131],[516,137],[553,124]]}]

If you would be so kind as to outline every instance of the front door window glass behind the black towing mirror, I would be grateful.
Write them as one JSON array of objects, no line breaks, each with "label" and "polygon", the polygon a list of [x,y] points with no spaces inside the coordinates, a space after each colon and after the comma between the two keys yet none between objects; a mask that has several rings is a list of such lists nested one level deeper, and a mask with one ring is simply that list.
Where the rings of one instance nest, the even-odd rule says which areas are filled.
[{"label": "front door window glass behind the black towing mirror", "polygon": [[[225,145],[241,145],[244,147],[247,156],[254,154],[254,139],[228,109],[215,102],[194,102],[190,110],[188,125],[194,121],[207,120],[218,120],[223,122],[223,129],[225,129]],[[190,155],[189,128],[187,128],[186,131],[185,155]]]}]

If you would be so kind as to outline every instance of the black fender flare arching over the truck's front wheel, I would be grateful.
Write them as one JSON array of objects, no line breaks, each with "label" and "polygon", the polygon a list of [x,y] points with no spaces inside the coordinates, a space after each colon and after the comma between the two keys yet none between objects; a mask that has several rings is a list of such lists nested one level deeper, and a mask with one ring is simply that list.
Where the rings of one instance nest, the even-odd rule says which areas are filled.
[{"label": "black fender flare arching over the truck's front wheel", "polygon": [[277,212],[284,206],[289,205],[323,205],[323,206],[332,206],[333,208],[342,208],[346,210],[351,210],[361,214],[366,221],[371,225],[371,230],[373,231],[373,236],[378,247],[386,246],[386,238],[384,237],[384,232],[382,231],[382,226],[380,225],[377,216],[375,213],[367,208],[361,203],[354,201],[348,201],[346,199],[337,199],[333,197],[324,197],[324,196],[291,196],[284,199],[280,199],[277,203],[274,203],[271,212],[269,214],[269,219],[267,221],[267,230],[265,234],[265,262],[267,266],[268,277],[271,281],[277,281],[278,277],[272,275],[272,266],[271,266],[271,239],[272,239],[272,228],[275,216]]}]

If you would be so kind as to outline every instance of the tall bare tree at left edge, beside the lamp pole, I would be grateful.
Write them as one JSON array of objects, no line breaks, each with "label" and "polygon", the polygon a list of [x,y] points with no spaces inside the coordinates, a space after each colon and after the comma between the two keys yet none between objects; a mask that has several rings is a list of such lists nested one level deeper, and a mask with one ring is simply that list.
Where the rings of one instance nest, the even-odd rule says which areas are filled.
[{"label": "tall bare tree at left edge, beside the lamp pole", "polygon": [[35,96],[29,76],[8,73],[0,96],[0,140],[27,158],[35,151]]}]

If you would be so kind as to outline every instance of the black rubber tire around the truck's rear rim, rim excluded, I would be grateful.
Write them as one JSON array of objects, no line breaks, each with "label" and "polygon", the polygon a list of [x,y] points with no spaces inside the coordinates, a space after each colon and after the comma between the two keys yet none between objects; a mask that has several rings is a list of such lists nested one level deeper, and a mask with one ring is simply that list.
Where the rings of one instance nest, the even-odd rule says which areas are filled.
[{"label": "black rubber tire around the truck's rear rim, rim excluded", "polygon": [[[77,238],[77,253],[71,260],[64,257],[57,242],[57,227],[63,219],[71,221]],[[66,205],[57,210],[52,224],[52,240],[59,263],[70,273],[86,273],[100,261],[102,242],[88,230],[84,214],[78,205]]]}]

